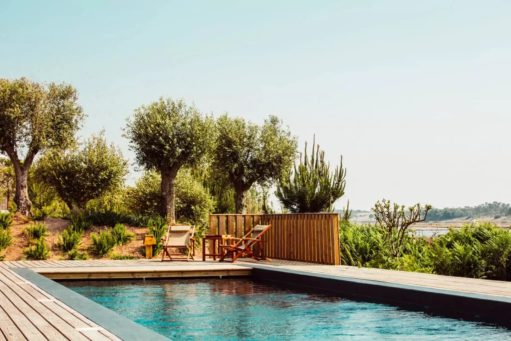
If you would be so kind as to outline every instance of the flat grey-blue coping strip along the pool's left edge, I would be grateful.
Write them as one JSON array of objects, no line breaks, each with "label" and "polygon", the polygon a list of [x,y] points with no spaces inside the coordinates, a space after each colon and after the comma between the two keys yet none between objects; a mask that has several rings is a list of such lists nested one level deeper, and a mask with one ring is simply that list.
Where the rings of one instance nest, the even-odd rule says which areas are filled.
[{"label": "flat grey-blue coping strip along the pool's left edge", "polygon": [[127,317],[105,308],[51,279],[37,274],[37,272],[30,268],[18,267],[10,269],[124,341],[169,340],[169,338],[139,325]]}]

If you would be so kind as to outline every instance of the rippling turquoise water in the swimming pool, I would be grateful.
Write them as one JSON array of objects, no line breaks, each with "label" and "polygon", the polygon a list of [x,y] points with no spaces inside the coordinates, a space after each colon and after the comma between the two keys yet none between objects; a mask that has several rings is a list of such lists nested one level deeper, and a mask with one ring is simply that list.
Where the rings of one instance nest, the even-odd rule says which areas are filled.
[{"label": "rippling turquoise water in the swimming pool", "polygon": [[175,340],[508,340],[511,331],[246,279],[65,282]]}]

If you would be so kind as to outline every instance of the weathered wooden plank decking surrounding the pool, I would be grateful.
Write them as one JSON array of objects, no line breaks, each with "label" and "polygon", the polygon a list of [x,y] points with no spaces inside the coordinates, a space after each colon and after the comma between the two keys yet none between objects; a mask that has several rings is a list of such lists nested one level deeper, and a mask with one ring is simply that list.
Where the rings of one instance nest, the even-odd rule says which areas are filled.
[{"label": "weathered wooden plank decking surrounding the pool", "polygon": [[211,261],[161,263],[157,260],[0,262],[0,341],[120,340],[11,269],[24,267],[55,279],[241,276],[250,275],[252,268],[254,271],[265,268],[310,274],[315,276],[316,281],[322,280],[318,276],[327,275],[329,278],[448,290],[458,295],[492,295],[504,300],[511,298],[511,283],[508,282],[293,261],[267,263],[243,260],[234,264]]}]

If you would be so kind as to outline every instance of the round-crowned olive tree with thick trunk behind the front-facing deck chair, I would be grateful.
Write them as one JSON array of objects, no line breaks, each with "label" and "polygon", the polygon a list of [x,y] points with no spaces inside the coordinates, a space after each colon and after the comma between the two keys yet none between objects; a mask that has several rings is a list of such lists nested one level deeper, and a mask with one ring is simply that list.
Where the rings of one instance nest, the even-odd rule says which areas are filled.
[{"label": "round-crowned olive tree with thick trunk behind the front-facing deck chair", "polygon": [[124,137],[135,152],[137,164],[161,174],[162,213],[175,221],[177,172],[183,166],[198,166],[206,160],[215,137],[213,118],[203,116],[183,100],[160,97],[134,110]]}]

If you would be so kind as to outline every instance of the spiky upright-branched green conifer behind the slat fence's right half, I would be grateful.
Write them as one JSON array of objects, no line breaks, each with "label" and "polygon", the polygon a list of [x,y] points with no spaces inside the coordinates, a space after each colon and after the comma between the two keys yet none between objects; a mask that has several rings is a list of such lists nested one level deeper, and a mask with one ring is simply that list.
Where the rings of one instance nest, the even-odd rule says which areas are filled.
[{"label": "spiky upright-branched green conifer behind the slat fence's right half", "polygon": [[304,160],[300,153],[300,164],[295,163],[294,172],[277,181],[275,196],[291,213],[333,212],[332,204],[344,195],[346,169],[342,168],[342,155],[340,166],[332,174],[319,145],[314,155],[314,144],[315,140],[310,161],[306,142]]}]

